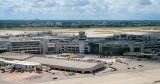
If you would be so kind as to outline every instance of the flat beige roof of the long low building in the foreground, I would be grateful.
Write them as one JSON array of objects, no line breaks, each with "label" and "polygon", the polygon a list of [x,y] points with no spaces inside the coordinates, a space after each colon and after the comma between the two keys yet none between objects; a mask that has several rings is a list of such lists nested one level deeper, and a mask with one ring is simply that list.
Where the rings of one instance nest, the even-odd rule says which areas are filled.
[{"label": "flat beige roof of the long low building in the foreground", "polygon": [[26,61],[38,62],[46,65],[55,65],[61,67],[69,67],[69,68],[93,68],[99,63],[97,62],[84,62],[84,61],[73,61],[73,60],[64,60],[64,59],[55,59],[55,58],[45,58],[45,57],[32,57],[27,59]]}]

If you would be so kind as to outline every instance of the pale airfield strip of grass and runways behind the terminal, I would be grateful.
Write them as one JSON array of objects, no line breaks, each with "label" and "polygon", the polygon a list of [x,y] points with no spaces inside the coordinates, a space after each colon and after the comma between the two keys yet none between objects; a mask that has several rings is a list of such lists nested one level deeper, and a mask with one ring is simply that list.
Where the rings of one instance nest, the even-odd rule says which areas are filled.
[{"label": "pale airfield strip of grass and runways behind the terminal", "polygon": [[[144,28],[158,28],[158,27],[106,27],[106,28],[41,28],[41,29],[0,29],[0,32],[4,31],[53,31],[54,33],[66,33],[73,34],[78,33],[79,31],[86,31],[86,33],[95,33],[95,34],[124,34],[124,33],[150,33],[154,35],[160,35],[160,30],[156,31],[146,31]],[[160,27],[159,27],[160,28]],[[93,31],[92,31],[93,29]],[[88,31],[89,30],[89,31]],[[91,30],[91,31],[90,31]]]}]

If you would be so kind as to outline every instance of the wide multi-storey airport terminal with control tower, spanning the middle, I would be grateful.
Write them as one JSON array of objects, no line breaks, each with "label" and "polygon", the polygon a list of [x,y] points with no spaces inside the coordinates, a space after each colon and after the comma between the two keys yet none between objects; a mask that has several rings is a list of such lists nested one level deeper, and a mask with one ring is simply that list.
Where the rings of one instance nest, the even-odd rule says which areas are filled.
[{"label": "wide multi-storey airport terminal with control tower, spanning the middle", "polygon": [[104,38],[79,35],[56,35],[52,32],[25,33],[0,39],[0,52],[31,54],[81,53],[121,55],[125,52],[160,52],[159,38],[146,35],[119,34]]}]

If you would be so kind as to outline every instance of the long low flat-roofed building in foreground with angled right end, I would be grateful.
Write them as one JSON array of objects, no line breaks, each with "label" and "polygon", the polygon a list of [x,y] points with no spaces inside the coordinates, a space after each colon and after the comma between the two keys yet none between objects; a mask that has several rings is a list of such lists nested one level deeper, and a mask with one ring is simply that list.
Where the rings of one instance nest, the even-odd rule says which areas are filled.
[{"label": "long low flat-roofed building in foreground with angled right end", "polygon": [[33,57],[27,59],[26,61],[41,63],[42,65],[51,67],[55,70],[71,71],[77,73],[92,73],[102,70],[105,67],[104,63],[45,57]]}]

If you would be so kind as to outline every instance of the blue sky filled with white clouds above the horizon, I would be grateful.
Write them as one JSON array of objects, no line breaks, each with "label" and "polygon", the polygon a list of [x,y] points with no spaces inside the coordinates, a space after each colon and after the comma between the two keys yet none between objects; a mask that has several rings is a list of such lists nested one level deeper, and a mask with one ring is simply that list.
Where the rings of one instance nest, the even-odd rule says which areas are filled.
[{"label": "blue sky filled with white clouds above the horizon", "polygon": [[0,0],[0,19],[160,20],[160,0]]}]

